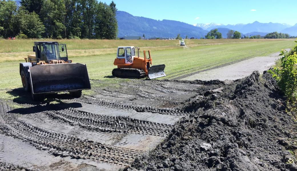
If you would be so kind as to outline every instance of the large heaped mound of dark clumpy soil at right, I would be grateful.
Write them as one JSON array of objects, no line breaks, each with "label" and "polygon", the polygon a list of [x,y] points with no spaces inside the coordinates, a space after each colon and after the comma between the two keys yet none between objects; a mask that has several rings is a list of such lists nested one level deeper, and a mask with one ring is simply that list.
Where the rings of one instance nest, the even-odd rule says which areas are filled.
[{"label": "large heaped mound of dark clumpy soil at right", "polygon": [[270,74],[222,84],[184,110],[196,112],[126,170],[297,170],[286,141],[296,123]]}]

